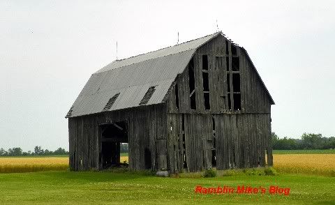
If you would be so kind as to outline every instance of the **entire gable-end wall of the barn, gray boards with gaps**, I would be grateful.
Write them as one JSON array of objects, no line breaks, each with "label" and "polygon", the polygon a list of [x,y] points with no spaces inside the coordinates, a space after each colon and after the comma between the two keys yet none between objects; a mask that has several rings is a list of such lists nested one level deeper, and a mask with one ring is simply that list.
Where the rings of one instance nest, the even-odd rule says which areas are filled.
[{"label": "entire gable-end wall of the barn, gray boards with gaps", "polygon": [[[184,151],[188,172],[211,167],[214,133],[217,169],[265,166],[266,151],[268,164],[272,165],[271,101],[244,50],[235,47],[236,53],[232,54],[230,41],[218,36],[195,52],[193,61],[196,109],[191,109],[188,68],[178,75],[175,81],[177,97],[176,87],[172,87],[167,101],[168,168],[171,172],[182,172]],[[202,55],[207,55],[208,70],[202,69]],[[235,60],[239,58],[239,70],[232,69],[233,57]],[[204,107],[203,73],[208,73],[209,78],[210,109]],[[241,95],[239,110],[236,107],[234,109],[232,95],[237,90],[232,82],[234,74],[238,74],[240,79],[240,89],[237,92]],[[183,118],[185,128],[181,130]],[[185,142],[182,141],[183,135]]]}]

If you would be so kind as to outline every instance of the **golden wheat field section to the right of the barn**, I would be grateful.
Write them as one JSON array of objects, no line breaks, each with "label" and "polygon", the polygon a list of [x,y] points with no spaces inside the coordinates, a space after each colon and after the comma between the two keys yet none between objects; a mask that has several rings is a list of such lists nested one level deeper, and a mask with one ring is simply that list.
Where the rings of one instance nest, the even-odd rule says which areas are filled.
[{"label": "golden wheat field section to the right of the barn", "polygon": [[292,174],[335,176],[335,154],[274,155],[274,168]]}]

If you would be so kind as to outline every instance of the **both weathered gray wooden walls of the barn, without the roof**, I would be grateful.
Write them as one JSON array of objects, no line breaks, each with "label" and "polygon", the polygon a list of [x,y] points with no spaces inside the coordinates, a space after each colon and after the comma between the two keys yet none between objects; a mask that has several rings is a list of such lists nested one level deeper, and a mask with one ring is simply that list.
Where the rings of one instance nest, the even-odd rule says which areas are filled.
[{"label": "both weathered gray wooden walls of the barn, without the roof", "polygon": [[[70,118],[69,151],[71,170],[102,169],[103,141],[101,126],[126,121],[128,126],[129,168],[145,169],[144,150],[149,150],[151,169],[168,169],[183,172],[184,151],[186,172],[196,172],[211,167],[213,142],[212,116],[216,125],[216,168],[273,165],[271,149],[271,102],[253,64],[244,50],[237,47],[239,71],[232,71],[232,53],[228,41],[225,53],[225,38],[218,36],[204,44],[194,54],[196,109],[190,107],[188,69],[175,79],[178,89],[178,104],[174,85],[168,99],[161,105],[148,105],[130,109],[91,114]],[[208,57],[208,71],[202,70],[202,55]],[[226,57],[229,67],[227,71]],[[186,68],[188,68],[186,66]],[[208,72],[210,109],[204,109],[202,73]],[[240,75],[241,111],[234,111],[232,73]],[[227,74],[230,90],[227,86]],[[228,92],[232,110],[228,110]],[[183,122],[184,116],[184,122]],[[184,129],[182,125],[184,123]],[[172,128],[172,130],[171,130]],[[185,136],[185,139],[183,139]],[[114,141],[113,141],[114,140]],[[118,144],[119,142],[117,142]],[[117,162],[119,145],[114,152]],[[185,144],[185,149],[184,149]],[[148,160],[148,159],[147,159]]]}]

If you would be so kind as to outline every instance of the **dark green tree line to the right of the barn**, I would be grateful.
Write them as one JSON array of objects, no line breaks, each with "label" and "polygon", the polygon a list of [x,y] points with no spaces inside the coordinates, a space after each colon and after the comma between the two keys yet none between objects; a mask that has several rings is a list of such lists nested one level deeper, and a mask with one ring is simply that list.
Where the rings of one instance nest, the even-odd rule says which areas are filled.
[{"label": "dark green tree line to the right of the barn", "polygon": [[322,137],[321,134],[304,133],[301,139],[279,138],[271,133],[273,149],[335,149],[335,137]]}]

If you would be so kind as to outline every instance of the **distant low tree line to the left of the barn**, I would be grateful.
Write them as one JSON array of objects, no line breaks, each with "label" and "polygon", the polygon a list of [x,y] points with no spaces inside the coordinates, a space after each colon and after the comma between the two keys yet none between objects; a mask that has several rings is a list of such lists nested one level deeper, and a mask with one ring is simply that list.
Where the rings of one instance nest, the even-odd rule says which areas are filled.
[{"label": "distant low tree line to the left of the barn", "polygon": [[8,151],[3,148],[0,149],[0,156],[29,156],[29,155],[68,155],[68,151],[59,147],[55,151],[49,151],[47,149],[43,150],[40,146],[35,146],[34,151],[22,151],[20,147],[13,147],[13,149],[8,149]]}]

